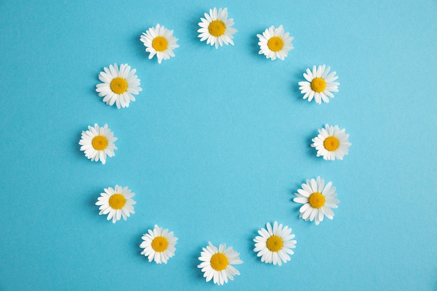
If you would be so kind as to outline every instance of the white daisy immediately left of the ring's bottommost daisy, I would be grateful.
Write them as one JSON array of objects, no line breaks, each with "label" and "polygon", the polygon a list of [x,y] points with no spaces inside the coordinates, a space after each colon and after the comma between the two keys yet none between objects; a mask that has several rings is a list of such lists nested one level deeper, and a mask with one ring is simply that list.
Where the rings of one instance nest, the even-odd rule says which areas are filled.
[{"label": "white daisy immediately left of the ring's bottommost daisy", "polygon": [[141,255],[149,257],[149,262],[154,260],[156,264],[167,264],[169,258],[175,255],[177,237],[168,229],[155,225],[154,230],[142,236],[140,248],[144,248]]}]

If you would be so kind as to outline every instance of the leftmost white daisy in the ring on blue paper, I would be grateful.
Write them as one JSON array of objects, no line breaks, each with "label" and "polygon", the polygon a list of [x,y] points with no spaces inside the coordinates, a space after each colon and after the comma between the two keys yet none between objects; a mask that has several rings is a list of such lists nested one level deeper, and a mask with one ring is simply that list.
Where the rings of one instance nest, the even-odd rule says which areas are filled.
[{"label": "leftmost white daisy in the ring on blue paper", "polygon": [[117,140],[117,137],[114,137],[114,133],[108,128],[108,124],[105,124],[103,127],[94,124],[93,126],[88,126],[88,130],[82,130],[82,136],[80,137],[79,144],[81,151],[84,151],[85,156],[91,161],[100,160],[103,165],[106,163],[106,156],[115,156],[114,142]]}]

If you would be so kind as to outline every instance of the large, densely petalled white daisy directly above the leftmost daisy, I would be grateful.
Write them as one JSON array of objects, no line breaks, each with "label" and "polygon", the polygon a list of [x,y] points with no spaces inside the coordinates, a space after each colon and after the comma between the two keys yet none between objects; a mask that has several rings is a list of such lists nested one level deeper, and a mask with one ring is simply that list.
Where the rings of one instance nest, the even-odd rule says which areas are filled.
[{"label": "large, densely petalled white daisy directly above the leftmost daisy", "polygon": [[135,101],[132,94],[138,95],[142,91],[140,79],[135,75],[136,70],[131,70],[128,64],[121,64],[120,68],[114,64],[103,70],[98,75],[98,80],[103,83],[96,85],[98,96],[103,97],[103,102],[110,106],[115,103],[118,109],[129,107],[129,103]]}]

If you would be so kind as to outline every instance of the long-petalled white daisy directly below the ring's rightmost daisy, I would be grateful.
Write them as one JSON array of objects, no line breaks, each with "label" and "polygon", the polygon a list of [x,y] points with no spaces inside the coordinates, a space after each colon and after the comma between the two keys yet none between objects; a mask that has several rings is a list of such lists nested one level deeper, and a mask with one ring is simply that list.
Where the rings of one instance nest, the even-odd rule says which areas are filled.
[{"label": "long-petalled white daisy directly below the ring's rightmost daisy", "polygon": [[304,204],[300,207],[299,218],[304,218],[305,221],[316,221],[316,225],[323,221],[326,216],[329,219],[334,218],[334,212],[331,208],[337,208],[336,204],[340,201],[335,199],[335,187],[332,187],[332,182],[325,186],[325,180],[317,177],[317,180],[306,180],[306,184],[302,184],[302,189],[295,193],[294,202]]}]

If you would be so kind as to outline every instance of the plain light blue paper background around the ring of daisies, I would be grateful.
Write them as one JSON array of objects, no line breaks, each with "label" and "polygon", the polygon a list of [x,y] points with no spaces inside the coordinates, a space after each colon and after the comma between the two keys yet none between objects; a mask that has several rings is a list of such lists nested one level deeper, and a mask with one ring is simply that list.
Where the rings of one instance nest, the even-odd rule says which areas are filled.
[{"label": "plain light blue paper background around the ring of daisies", "polygon": [[[228,7],[235,46],[198,40],[209,8]],[[223,290],[437,290],[437,1],[1,1],[0,290],[212,290],[196,268],[208,241],[241,253]],[[147,59],[140,35],[173,29],[176,57]],[[285,61],[258,55],[283,24]],[[104,66],[128,63],[143,91],[122,110],[95,92]],[[339,75],[329,104],[302,100],[313,65]],[[77,144],[108,123],[106,165]],[[324,124],[350,134],[343,161],[309,147]],[[332,181],[333,221],[299,219],[292,193]],[[103,188],[136,193],[115,224]],[[253,253],[265,223],[292,227],[282,267]],[[154,224],[175,232],[168,264],[140,255]]]}]

